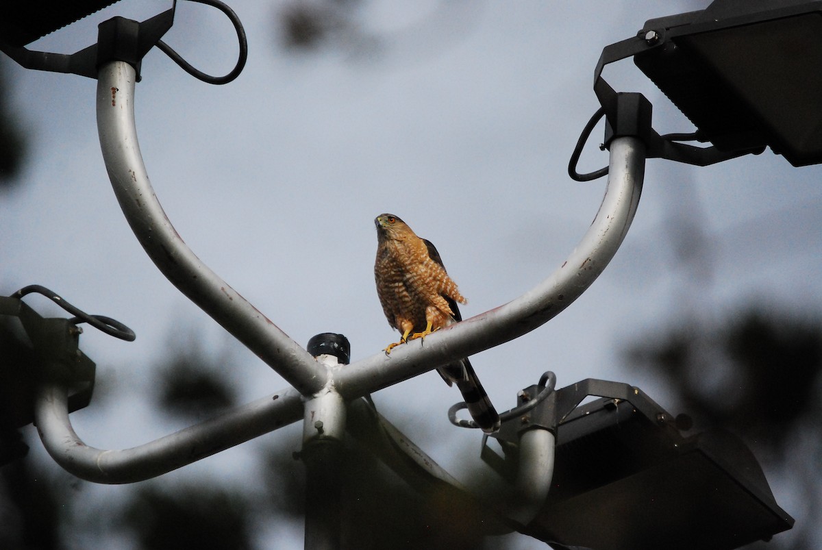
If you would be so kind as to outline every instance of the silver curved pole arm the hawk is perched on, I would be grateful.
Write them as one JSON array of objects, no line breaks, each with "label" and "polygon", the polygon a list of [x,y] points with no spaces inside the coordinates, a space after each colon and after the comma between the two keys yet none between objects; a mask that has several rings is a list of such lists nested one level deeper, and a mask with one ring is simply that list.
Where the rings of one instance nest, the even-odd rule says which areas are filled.
[{"label": "silver curved pole arm the hawk is perched on", "polygon": [[398,346],[389,356],[376,354],[333,372],[337,390],[353,399],[504,344],[551,320],[588,289],[617,252],[640,201],[644,169],[645,146],[639,138],[613,140],[602,206],[559,269],[505,305]]}]

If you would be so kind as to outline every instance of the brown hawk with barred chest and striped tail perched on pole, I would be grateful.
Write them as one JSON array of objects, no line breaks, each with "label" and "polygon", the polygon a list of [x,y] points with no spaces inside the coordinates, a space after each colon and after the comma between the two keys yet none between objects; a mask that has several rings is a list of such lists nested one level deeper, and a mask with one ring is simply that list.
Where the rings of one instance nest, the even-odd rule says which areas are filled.
[{"label": "brown hawk with barred chest and striped tail perched on pole", "polygon": [[[407,340],[422,338],[434,330],[462,321],[457,302],[466,300],[446,273],[434,245],[419,238],[393,214],[381,214],[376,224],[376,293],[388,324],[402,337],[386,348],[386,354]],[[456,383],[473,421],[492,433],[500,428],[500,417],[479,383],[468,358],[436,369],[449,386]]]}]

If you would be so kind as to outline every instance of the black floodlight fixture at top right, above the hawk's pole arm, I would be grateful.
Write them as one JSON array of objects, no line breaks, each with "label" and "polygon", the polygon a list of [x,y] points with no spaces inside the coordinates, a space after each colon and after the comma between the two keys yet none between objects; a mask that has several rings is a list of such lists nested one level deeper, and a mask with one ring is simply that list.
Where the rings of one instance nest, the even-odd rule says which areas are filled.
[{"label": "black floodlight fixture at top right, above the hawk's pole arm", "polygon": [[628,57],[697,127],[687,135],[654,133],[649,156],[705,165],[768,146],[794,166],[822,163],[819,0],[715,0],[701,11],[646,21],[600,58],[594,90],[609,123],[617,94],[601,73]]}]

